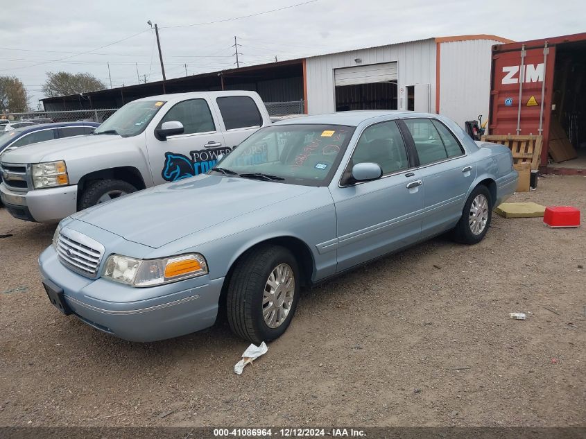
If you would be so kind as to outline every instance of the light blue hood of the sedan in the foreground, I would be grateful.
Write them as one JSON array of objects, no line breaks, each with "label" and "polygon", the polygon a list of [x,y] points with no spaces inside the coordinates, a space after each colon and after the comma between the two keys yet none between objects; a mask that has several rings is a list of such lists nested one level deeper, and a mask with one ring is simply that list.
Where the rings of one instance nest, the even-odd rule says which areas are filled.
[{"label": "light blue hood of the sedan in the foreground", "polygon": [[72,218],[128,241],[159,248],[188,234],[316,189],[202,174],[90,207]]}]

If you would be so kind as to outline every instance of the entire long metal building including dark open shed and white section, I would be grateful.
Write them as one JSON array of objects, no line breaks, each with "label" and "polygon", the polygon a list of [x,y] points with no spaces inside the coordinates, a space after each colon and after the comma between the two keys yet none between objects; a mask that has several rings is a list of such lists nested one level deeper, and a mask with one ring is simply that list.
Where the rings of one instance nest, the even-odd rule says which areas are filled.
[{"label": "entire long metal building including dark open shed and white section", "polygon": [[246,89],[270,103],[271,115],[301,112],[303,105],[309,114],[413,110],[445,114],[464,126],[479,114],[488,118],[491,48],[508,42],[494,35],[428,38],[45,98],[43,103],[47,111],[94,110],[161,93]]}]

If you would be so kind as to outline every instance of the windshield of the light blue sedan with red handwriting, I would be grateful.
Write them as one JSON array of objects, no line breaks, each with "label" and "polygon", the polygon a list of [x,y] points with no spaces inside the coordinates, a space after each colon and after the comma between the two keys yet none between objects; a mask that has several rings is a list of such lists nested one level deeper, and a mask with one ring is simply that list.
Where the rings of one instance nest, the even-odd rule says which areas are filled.
[{"label": "windshield of the light blue sedan with red handwriting", "polygon": [[354,127],[340,125],[270,126],[248,137],[214,169],[243,178],[324,186],[353,132]]}]

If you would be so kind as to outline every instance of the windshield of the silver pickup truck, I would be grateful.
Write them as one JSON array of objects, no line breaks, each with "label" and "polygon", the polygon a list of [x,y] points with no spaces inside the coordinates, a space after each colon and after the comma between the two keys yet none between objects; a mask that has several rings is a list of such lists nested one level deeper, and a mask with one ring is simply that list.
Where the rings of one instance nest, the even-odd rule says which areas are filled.
[{"label": "windshield of the silver pickup truck", "polygon": [[112,114],[94,135],[114,134],[122,137],[132,137],[143,132],[155,114],[164,105],[163,101],[135,101],[121,107]]}]

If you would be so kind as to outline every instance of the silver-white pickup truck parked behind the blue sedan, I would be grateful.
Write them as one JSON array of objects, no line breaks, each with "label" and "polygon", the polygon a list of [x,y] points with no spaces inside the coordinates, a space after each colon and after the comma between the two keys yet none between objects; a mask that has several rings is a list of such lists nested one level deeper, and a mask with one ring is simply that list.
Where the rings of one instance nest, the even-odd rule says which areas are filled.
[{"label": "silver-white pickup truck parked behind the blue sedan", "polygon": [[126,193],[204,173],[266,125],[268,112],[255,92],[137,99],[93,135],[3,154],[0,197],[15,218],[56,223]]}]

